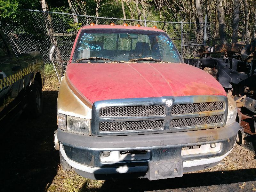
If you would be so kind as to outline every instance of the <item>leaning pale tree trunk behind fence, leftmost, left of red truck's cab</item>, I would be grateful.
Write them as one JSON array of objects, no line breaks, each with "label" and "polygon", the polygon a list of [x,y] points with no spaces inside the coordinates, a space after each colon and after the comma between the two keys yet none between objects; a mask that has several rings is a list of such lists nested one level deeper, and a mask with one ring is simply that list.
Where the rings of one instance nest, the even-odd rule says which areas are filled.
[{"label": "leaning pale tree trunk behind fence, leftmost, left of red truck's cab", "polygon": [[[48,7],[48,5],[47,5],[45,0],[41,0],[41,5],[42,5],[43,11],[49,11],[49,7]],[[51,18],[51,15],[49,13],[44,13],[44,16],[45,16],[44,21],[45,21],[45,27],[47,29],[47,33],[48,33],[48,35],[50,37],[51,43],[53,45],[55,45],[55,50],[57,52],[57,60],[62,60],[61,56],[60,56],[60,50],[58,48],[57,40],[53,36],[54,30],[52,28],[52,18]]]}]

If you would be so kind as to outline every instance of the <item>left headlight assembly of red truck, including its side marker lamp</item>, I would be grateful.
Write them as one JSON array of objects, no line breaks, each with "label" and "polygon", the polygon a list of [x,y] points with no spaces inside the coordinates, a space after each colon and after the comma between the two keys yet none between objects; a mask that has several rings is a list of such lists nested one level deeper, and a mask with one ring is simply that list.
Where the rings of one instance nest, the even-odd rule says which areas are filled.
[{"label": "left headlight assembly of red truck, including its side marker lamp", "polygon": [[90,119],[83,119],[79,117],[66,116],[64,114],[58,114],[58,125],[59,128],[64,131],[69,131],[73,133],[79,133],[84,135],[90,135]]}]

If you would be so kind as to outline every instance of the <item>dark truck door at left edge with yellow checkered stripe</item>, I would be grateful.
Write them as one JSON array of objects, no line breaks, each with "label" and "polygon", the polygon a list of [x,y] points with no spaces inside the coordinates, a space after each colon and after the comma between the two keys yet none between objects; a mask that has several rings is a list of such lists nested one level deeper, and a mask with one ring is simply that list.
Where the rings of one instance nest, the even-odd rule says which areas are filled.
[{"label": "dark truck door at left edge with yellow checkered stripe", "polygon": [[20,103],[24,90],[20,63],[2,33],[0,33],[0,71],[0,92],[1,90],[4,92],[0,94],[4,97],[1,98],[0,105],[5,102],[5,107],[1,109],[2,114],[0,113],[1,119]]}]

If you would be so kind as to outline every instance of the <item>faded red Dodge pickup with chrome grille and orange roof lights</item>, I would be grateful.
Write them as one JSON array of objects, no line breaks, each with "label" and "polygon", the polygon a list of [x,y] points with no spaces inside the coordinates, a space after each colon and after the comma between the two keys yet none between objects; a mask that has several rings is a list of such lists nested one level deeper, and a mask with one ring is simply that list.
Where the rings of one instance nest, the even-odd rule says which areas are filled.
[{"label": "faded red Dodge pickup with chrome grille and orange roof lights", "polygon": [[57,103],[62,168],[86,178],[180,177],[217,165],[237,138],[235,101],[185,64],[160,29],[82,27]]}]

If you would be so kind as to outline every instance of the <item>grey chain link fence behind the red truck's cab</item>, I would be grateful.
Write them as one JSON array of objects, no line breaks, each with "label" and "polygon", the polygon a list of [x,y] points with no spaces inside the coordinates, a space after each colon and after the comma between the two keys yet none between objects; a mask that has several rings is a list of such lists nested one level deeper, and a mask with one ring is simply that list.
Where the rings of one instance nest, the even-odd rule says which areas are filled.
[{"label": "grey chain link fence behind the red truck's cab", "polygon": [[[76,28],[90,23],[95,24],[140,24],[164,30],[176,45],[183,58],[193,58],[193,52],[204,42],[204,23],[182,23],[144,20],[123,20],[92,16],[72,15],[68,13],[24,10],[22,17],[26,22],[0,23],[15,54],[38,50],[45,63],[50,63],[48,50],[51,44],[56,47],[53,58],[68,61],[76,38]],[[74,21],[78,21],[75,25]]]}]

